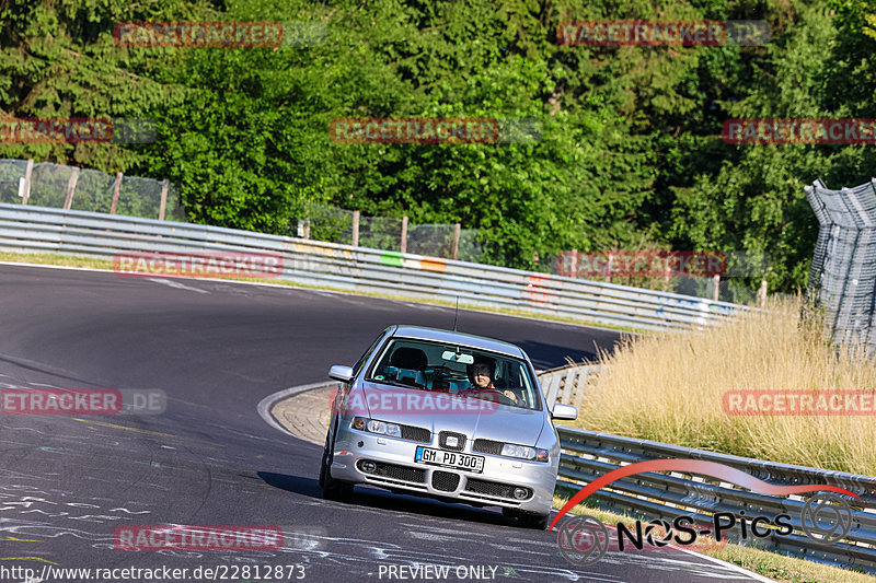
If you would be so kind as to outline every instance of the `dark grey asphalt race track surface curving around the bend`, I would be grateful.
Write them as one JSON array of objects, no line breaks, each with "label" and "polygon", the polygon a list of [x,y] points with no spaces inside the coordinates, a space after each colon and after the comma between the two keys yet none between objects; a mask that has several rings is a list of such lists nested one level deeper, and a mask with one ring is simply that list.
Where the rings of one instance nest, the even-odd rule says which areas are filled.
[{"label": "dark grey asphalt race track surface curving around the bend", "polygon": [[[46,565],[188,569],[185,581],[207,580],[193,576],[198,567],[227,581],[411,581],[390,568],[416,563],[452,565],[447,581],[753,580],[675,549],[609,552],[577,567],[558,552],[555,533],[520,528],[495,508],[361,487],[355,503],[323,500],[322,448],[269,427],[256,405],[326,380],[331,364],[353,363],[390,324],[450,328],[452,317],[449,308],[323,291],[0,265],[0,388],[168,395],[157,416],[0,416],[0,581],[24,581],[13,567],[34,569],[37,581]],[[470,311],[459,328],[522,346],[539,369],[592,358],[619,338]],[[135,525],[275,525],[286,543],[270,551],[117,550],[116,527]],[[262,572],[232,578],[235,565]],[[283,575],[266,578],[267,565],[274,575],[284,565]],[[45,579],[106,580],[89,576]]]}]

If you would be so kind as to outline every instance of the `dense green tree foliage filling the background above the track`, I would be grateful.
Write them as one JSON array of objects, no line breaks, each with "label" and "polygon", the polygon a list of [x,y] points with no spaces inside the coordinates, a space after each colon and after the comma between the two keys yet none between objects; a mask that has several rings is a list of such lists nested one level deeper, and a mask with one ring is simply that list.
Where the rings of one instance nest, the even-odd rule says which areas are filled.
[{"label": "dense green tree foliage filling the background above the track", "polygon": [[[803,186],[873,175],[873,145],[729,145],[728,117],[876,117],[865,0],[119,0],[0,3],[8,117],[157,121],[151,144],[2,144],[5,158],[169,178],[193,220],[288,232],[308,202],[479,229],[487,260],[563,249],[768,253],[804,284]],[[763,46],[562,46],[568,20],[762,20]],[[277,48],[119,47],[123,21],[320,24]],[[520,143],[336,143],[342,117],[534,119]]]}]

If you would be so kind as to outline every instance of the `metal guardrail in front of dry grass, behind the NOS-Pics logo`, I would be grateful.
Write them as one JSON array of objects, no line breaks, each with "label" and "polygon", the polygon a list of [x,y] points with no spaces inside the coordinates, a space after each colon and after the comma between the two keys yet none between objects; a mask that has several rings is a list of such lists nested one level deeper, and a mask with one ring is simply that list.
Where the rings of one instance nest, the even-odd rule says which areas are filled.
[{"label": "metal guardrail in front of dry grass, behind the NOS-Pics logo", "polygon": [[[862,500],[849,495],[841,497],[853,510],[851,529],[841,541],[837,543],[815,540],[803,534],[800,512],[805,500],[799,497],[758,494],[708,477],[694,478],[677,471],[671,475],[641,474],[612,482],[591,498],[606,510],[666,520],[670,523],[680,515],[693,516],[696,522],[711,523],[712,515],[716,512],[738,515],[740,510],[745,511],[746,516],[766,516],[771,521],[777,514],[787,514],[791,516],[794,533],[787,536],[773,533],[766,538],[759,538],[759,547],[876,573],[876,512],[874,512],[876,478],[776,464],[566,427],[557,427],[557,430],[563,448],[557,486],[568,488],[570,492],[578,491],[586,483],[623,465],[668,458],[716,462],[770,483],[783,486],[819,483],[845,488],[860,495]],[[738,527],[730,530],[730,533],[738,532]],[[730,539],[737,540],[738,536],[735,538],[731,534]],[[741,543],[752,543],[751,536]]]}]

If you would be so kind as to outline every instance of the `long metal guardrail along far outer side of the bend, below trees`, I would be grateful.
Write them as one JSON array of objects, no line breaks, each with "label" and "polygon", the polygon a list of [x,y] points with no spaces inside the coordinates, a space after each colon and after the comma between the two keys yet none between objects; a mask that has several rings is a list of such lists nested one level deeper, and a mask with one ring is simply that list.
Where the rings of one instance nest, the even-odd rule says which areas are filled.
[{"label": "long metal guardrail along far outer side of the bend, below trees", "polygon": [[520,310],[643,330],[716,324],[745,306],[413,254],[151,219],[0,203],[0,249],[112,259],[123,252],[278,253],[280,279]]}]

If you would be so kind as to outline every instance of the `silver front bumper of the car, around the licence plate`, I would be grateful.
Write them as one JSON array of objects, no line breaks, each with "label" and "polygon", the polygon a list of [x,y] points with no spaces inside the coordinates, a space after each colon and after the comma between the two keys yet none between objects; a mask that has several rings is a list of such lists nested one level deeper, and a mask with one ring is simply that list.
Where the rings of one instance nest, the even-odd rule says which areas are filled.
[{"label": "silver front bumper of the car, around the licence plate", "polygon": [[[484,457],[484,471],[475,474],[414,462],[416,447],[438,447],[436,443],[418,443],[345,428],[335,441],[332,477],[353,483],[405,490],[423,495],[454,499],[473,504],[498,505],[522,512],[546,515],[553,505],[556,483],[556,460],[526,462],[472,452]],[[373,462],[374,469],[364,471],[362,462]],[[518,500],[515,488],[530,494]]]}]

